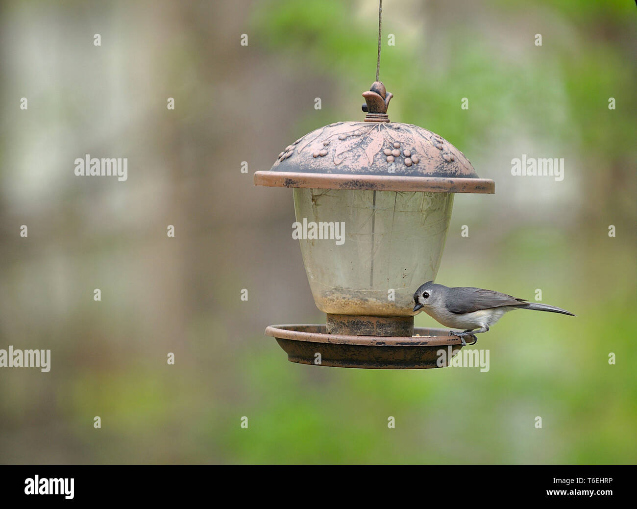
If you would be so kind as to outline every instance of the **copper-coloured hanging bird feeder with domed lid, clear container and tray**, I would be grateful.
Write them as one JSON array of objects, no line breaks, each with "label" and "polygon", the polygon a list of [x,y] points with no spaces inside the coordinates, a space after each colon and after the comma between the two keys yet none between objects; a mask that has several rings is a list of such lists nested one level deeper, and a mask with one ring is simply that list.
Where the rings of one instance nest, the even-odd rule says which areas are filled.
[{"label": "copper-coloured hanging bird feeder with domed lid, clear container and tray", "polygon": [[413,327],[413,292],[436,277],[454,194],[494,193],[495,184],[441,136],[390,121],[378,67],[362,94],[364,121],[316,129],[254,175],[257,186],[293,189],[310,289],[327,315],[326,325],[266,328],[291,362],[439,367],[441,348],[462,348],[448,329]]}]

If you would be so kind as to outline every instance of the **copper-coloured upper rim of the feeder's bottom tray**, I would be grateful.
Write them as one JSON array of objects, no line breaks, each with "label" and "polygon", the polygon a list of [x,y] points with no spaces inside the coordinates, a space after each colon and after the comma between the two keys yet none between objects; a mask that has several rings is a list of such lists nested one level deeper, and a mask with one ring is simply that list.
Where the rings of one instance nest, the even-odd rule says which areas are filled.
[{"label": "copper-coloured upper rim of the feeder's bottom tray", "polygon": [[[385,337],[385,336],[346,336],[344,334],[326,334],[324,332],[305,332],[298,330],[305,327],[326,327],[322,324],[285,324],[269,325],[266,336],[277,339],[291,339],[292,341],[307,341],[309,343],[357,344],[361,346],[446,346],[462,344],[457,336],[449,336],[449,330],[443,328],[414,327],[414,334],[420,332],[435,332],[436,336],[420,337]],[[470,342],[468,342],[469,344]]]}]

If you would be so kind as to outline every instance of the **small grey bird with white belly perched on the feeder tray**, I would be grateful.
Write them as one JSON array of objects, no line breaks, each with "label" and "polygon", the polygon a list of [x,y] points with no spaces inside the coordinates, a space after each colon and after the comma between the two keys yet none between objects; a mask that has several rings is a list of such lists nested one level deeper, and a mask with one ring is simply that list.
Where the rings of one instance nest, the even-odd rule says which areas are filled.
[{"label": "small grey bird with white belly perched on the feeder tray", "polygon": [[[516,299],[499,291],[468,286],[448,288],[443,284],[435,284],[433,281],[427,281],[416,290],[413,294],[413,302],[416,304],[413,306],[413,313],[422,309],[445,327],[464,329],[462,332],[449,331],[449,336],[458,336],[461,339],[462,346],[466,345],[465,336],[487,332],[491,325],[502,318],[503,314],[513,309],[534,309],[575,316],[560,307],[527,302],[526,299]],[[476,328],[478,330],[475,330]]]}]

